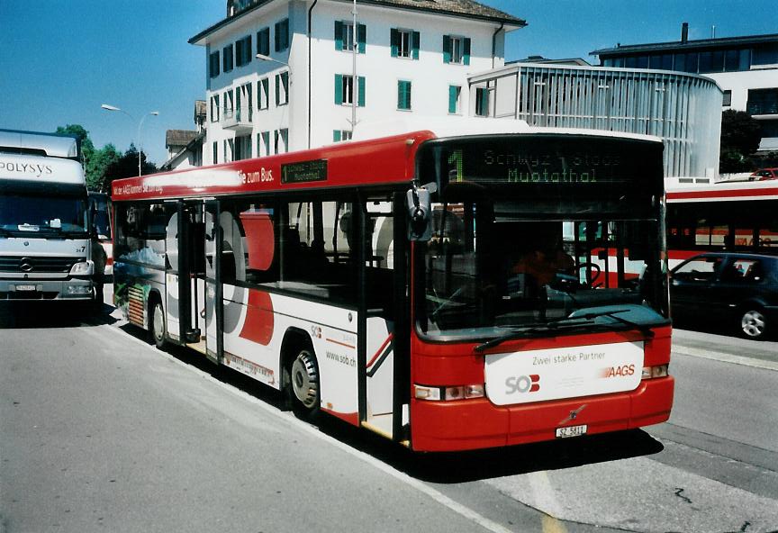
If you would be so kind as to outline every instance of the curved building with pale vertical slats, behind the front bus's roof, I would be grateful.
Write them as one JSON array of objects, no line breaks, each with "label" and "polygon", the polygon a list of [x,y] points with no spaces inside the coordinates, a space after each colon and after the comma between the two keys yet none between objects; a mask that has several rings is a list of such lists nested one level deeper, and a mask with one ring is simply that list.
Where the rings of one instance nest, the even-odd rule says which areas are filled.
[{"label": "curved building with pale vertical slats, behind the front bus's roof", "polygon": [[670,184],[708,184],[718,176],[722,93],[707,77],[515,63],[469,81],[476,116],[655,135],[665,141]]}]

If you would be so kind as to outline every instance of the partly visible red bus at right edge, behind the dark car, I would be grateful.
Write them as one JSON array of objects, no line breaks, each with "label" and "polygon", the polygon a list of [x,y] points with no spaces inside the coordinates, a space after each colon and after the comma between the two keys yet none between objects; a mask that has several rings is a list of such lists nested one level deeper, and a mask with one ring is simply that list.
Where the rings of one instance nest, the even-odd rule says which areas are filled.
[{"label": "partly visible red bus at right edge, behind the dark car", "polygon": [[702,252],[778,254],[778,182],[723,182],[667,191],[671,266]]}]

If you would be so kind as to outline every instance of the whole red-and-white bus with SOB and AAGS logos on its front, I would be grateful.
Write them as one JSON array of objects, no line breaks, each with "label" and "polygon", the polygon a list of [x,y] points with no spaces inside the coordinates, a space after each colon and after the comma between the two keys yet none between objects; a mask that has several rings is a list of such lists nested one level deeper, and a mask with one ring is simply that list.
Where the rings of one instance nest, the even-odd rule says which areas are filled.
[{"label": "whole red-and-white bus with SOB and AAGS logos on its front", "polygon": [[115,181],[114,303],[414,450],[667,420],[661,142],[479,123]]}]

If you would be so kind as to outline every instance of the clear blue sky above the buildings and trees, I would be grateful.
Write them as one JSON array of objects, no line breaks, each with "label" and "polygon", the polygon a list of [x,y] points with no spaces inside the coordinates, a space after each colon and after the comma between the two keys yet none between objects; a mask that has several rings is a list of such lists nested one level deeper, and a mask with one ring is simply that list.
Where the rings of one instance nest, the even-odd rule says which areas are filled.
[{"label": "clear blue sky above the buildings and trees", "polygon": [[[481,0],[525,19],[506,58],[589,57],[621,44],[778,33],[775,0]],[[358,5],[358,0],[357,0]],[[194,129],[205,51],[187,41],[224,17],[224,0],[0,0],[0,128],[83,125],[95,146],[141,143],[166,159],[165,131]],[[103,111],[121,107],[133,117]]]}]

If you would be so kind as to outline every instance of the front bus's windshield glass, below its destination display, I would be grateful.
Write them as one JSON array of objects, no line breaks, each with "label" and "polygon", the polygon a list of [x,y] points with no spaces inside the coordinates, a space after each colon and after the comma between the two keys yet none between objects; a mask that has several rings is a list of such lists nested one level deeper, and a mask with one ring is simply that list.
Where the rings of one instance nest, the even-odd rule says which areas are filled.
[{"label": "front bus's windshield glass, below its destination display", "polygon": [[571,325],[666,321],[656,220],[523,220],[489,203],[434,209],[421,321],[430,336],[497,334],[588,315],[596,316]]}]

